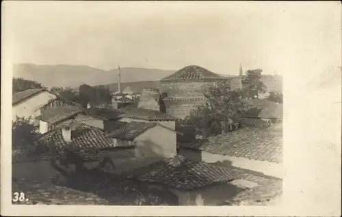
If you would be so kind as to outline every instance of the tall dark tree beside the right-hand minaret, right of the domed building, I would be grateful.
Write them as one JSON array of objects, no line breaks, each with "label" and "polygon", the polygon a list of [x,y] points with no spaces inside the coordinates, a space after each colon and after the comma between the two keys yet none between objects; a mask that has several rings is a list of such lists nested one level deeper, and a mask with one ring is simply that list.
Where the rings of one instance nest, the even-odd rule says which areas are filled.
[{"label": "tall dark tree beside the right-hand minaret, right of the domed building", "polygon": [[242,78],[242,89],[248,98],[258,98],[259,93],[264,93],[266,86],[261,81],[263,70],[247,70],[246,76]]}]

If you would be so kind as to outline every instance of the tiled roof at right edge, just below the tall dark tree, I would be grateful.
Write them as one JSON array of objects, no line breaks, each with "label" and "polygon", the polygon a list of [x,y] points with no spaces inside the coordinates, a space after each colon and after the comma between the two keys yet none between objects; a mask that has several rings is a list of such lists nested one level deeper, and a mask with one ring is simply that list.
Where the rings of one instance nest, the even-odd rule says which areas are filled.
[{"label": "tiled roof at right edge, just below the tall dark tree", "polygon": [[248,109],[244,117],[282,119],[282,103],[269,100],[250,100],[247,104],[251,109]]}]

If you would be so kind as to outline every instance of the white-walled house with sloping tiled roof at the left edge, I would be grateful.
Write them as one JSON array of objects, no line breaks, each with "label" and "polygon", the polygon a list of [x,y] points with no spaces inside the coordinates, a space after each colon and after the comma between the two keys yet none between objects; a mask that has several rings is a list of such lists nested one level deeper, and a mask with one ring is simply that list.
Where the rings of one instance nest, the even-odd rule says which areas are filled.
[{"label": "white-walled house with sloping tiled roof at the left edge", "polygon": [[12,120],[16,121],[16,117],[32,118],[35,125],[42,111],[49,107],[60,106],[76,106],[80,105],[75,102],[62,99],[57,93],[53,93],[47,89],[27,89],[12,95]]}]

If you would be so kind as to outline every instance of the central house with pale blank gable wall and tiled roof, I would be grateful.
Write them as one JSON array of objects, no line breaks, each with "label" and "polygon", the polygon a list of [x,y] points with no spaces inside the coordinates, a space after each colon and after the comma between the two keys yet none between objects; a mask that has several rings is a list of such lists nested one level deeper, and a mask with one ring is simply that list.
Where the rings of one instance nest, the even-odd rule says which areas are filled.
[{"label": "central house with pale blank gable wall and tiled roof", "polygon": [[109,133],[120,146],[135,146],[136,158],[176,156],[176,132],[157,122],[131,121]]}]

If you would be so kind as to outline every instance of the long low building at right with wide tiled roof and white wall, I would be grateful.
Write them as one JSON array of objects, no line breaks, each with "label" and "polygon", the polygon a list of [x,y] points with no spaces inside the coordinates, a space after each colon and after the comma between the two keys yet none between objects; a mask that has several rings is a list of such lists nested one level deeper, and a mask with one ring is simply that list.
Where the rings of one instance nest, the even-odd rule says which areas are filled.
[{"label": "long low building at right with wide tiled roof and white wall", "polygon": [[282,178],[282,124],[242,128],[211,136],[194,145],[179,144],[179,154],[208,163],[225,162],[233,167]]}]

